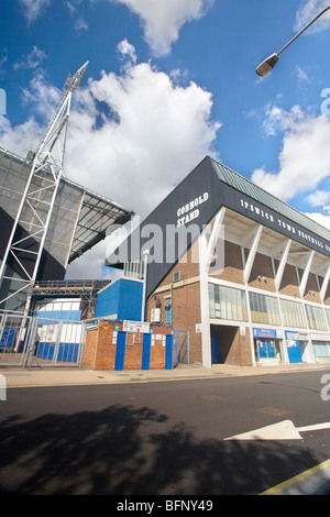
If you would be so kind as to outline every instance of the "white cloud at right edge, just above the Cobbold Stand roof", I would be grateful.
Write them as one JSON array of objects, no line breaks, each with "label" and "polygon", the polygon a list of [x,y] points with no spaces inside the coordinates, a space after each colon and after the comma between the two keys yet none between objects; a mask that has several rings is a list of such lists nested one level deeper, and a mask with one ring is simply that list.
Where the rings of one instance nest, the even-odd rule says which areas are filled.
[{"label": "white cloud at right edge, just above the Cobbold Stand roof", "polygon": [[254,170],[252,182],[276,197],[288,201],[299,193],[310,193],[330,175],[330,118],[309,116],[299,107],[290,111],[267,108],[265,128],[268,134],[283,132],[279,169]]}]

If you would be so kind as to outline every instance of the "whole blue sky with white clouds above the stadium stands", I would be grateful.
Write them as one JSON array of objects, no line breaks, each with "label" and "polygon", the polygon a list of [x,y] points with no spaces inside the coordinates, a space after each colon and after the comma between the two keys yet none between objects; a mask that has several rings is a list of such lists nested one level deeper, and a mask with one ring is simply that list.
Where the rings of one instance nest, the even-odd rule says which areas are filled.
[{"label": "whole blue sky with white clouds above the stadium stands", "polygon": [[[330,228],[330,11],[255,74],[329,4],[2,0],[0,146],[24,155],[37,143],[67,75],[89,61],[67,177],[144,218],[209,154]],[[102,246],[70,275],[91,260],[101,271]]]}]

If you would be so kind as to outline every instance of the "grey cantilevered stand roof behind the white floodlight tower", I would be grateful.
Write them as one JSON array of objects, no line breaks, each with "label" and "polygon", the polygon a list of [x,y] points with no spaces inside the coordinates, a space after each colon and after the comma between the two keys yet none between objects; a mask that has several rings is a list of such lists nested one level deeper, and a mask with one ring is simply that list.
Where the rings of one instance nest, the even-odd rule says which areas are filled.
[{"label": "grey cantilevered stand roof behind the white floodlight tower", "polygon": [[[29,154],[21,157],[0,147],[0,208],[13,219],[30,170]],[[41,173],[38,179],[43,182]],[[131,210],[63,176],[45,248],[61,264],[72,263],[132,216]]]}]

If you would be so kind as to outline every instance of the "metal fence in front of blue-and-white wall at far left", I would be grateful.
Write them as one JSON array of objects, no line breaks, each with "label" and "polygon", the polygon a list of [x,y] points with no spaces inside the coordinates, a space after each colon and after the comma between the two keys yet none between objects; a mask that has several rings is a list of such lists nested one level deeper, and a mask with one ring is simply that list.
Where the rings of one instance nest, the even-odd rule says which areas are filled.
[{"label": "metal fence in front of blue-and-white wall at far left", "polygon": [[81,366],[85,348],[81,321],[0,316],[0,365]]}]

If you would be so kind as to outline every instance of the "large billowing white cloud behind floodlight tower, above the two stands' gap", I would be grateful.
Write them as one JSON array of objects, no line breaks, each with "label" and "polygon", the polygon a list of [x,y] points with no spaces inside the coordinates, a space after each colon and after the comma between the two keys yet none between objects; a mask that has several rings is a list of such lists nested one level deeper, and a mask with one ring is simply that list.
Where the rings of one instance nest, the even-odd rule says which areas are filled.
[{"label": "large billowing white cloud behind floodlight tower, above the two stands' gap", "polygon": [[[44,119],[59,98],[42,76],[24,90],[24,101]],[[212,153],[219,128],[210,92],[195,82],[178,86],[151,63],[132,63],[74,92],[65,175],[144,218]],[[25,155],[44,130],[35,118],[11,127],[2,117],[0,145]]]}]

